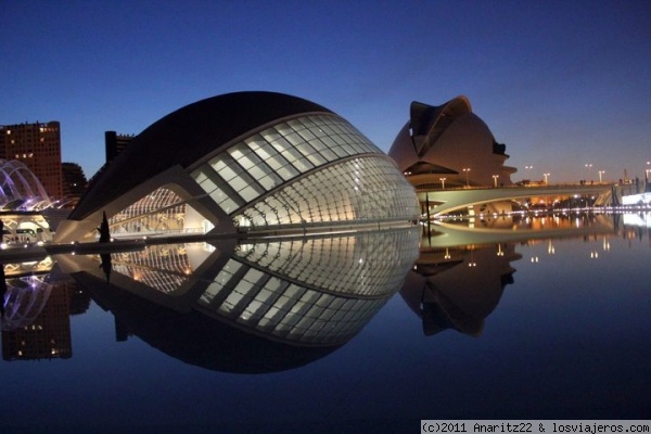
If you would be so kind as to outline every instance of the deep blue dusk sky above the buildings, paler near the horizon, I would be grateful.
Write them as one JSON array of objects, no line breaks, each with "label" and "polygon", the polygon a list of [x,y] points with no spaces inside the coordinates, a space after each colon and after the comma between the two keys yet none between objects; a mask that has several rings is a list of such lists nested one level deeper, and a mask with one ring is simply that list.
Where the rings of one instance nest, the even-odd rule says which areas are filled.
[{"label": "deep blue dusk sky above the buildings, paler near the horizon", "polygon": [[4,0],[1,11],[0,124],[60,120],[63,159],[88,177],[105,130],[138,133],[241,90],[324,105],[384,151],[411,101],[464,94],[507,144],[513,180],[643,176],[651,161],[646,0]]}]

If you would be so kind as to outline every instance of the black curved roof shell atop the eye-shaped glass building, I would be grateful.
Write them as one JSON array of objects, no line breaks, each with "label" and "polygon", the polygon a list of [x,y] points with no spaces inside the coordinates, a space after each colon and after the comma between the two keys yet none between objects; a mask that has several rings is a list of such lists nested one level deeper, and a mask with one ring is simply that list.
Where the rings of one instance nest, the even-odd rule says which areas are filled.
[{"label": "black curved roof shell atop the eye-shaped glass building", "polygon": [[186,105],[152,124],[104,166],[69,218],[81,219],[149,178],[175,165],[186,168],[247,131],[315,112],[333,113],[297,97],[265,91],[226,93]]}]

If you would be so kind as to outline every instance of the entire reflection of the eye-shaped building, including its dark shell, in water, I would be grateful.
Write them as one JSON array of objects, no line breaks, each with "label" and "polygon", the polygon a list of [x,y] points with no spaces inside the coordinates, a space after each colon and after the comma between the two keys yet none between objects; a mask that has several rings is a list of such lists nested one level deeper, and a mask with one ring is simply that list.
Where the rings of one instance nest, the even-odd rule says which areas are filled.
[{"label": "entire reflection of the eye-shaped building, including its dark shell, in water", "polygon": [[270,372],[355,336],[401,288],[418,243],[410,228],[151,245],[113,254],[110,283],[99,255],[56,260],[113,312],[118,341],[135,334],[192,365]]}]

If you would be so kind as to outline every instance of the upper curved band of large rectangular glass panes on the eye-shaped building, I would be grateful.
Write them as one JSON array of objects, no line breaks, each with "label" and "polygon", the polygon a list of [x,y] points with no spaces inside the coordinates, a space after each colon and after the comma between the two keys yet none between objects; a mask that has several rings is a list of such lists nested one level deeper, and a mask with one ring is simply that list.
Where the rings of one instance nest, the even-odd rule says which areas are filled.
[{"label": "upper curved band of large rectangular glass panes on the eye-shaped building", "polygon": [[192,177],[232,215],[302,174],[366,153],[381,151],[343,118],[312,115],[280,123],[235,143],[195,169]]}]

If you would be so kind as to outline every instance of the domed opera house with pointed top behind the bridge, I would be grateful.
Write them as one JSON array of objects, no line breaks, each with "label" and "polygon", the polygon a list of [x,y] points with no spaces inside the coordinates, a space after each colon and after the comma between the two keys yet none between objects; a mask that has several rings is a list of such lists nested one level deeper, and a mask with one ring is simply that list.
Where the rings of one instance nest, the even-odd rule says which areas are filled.
[{"label": "domed opera house with pointed top behind the bridge", "polygon": [[410,118],[388,155],[417,191],[512,184],[515,168],[505,166],[498,143],[465,97],[443,105],[412,102]]}]

